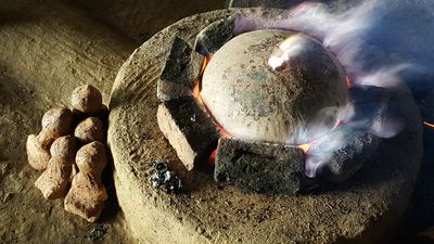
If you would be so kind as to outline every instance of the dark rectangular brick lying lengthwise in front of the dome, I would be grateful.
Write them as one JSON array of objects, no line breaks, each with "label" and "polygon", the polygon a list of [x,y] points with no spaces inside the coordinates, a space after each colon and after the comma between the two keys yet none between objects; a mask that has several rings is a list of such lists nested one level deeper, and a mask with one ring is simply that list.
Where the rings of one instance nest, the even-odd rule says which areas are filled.
[{"label": "dark rectangular brick lying lengthwise in front of the dome", "polygon": [[221,138],[214,179],[255,192],[292,195],[307,187],[304,160],[297,147]]}]

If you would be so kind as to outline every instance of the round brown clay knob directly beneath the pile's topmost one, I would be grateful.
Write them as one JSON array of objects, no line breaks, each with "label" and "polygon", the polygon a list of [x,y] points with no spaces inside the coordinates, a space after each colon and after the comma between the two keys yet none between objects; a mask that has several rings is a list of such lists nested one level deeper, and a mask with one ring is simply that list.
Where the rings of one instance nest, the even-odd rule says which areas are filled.
[{"label": "round brown clay knob directly beneath the pile's topmost one", "polygon": [[97,117],[89,117],[80,121],[74,130],[76,137],[81,143],[86,144],[92,141],[104,141],[104,125]]}]

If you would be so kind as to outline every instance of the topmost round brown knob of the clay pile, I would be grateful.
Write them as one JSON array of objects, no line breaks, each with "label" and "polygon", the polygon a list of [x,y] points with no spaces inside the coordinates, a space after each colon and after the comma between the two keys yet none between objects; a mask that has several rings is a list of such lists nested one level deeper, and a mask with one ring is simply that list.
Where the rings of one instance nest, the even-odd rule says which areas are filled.
[{"label": "topmost round brown knob of the clay pile", "polygon": [[91,85],[77,87],[71,97],[74,110],[81,113],[97,113],[102,105],[101,92]]}]

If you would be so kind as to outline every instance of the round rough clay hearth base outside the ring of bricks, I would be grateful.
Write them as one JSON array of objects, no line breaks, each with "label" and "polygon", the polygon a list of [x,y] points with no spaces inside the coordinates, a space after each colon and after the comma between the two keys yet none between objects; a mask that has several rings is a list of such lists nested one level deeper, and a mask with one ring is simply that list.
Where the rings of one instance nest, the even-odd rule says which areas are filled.
[{"label": "round rough clay hearth base outside the ring of bricks", "polygon": [[[233,9],[184,18],[143,43],[118,73],[110,103],[108,143],[119,205],[136,236],[145,243],[375,243],[386,239],[408,202],[421,157],[420,115],[405,87],[391,90],[390,99],[406,118],[406,130],[382,141],[367,165],[337,189],[296,196],[246,193],[237,187],[220,188],[210,174],[189,171],[180,163],[158,128],[157,82],[176,53],[170,51],[176,37],[188,43],[182,52],[191,52],[200,31],[234,13],[284,17],[279,10]],[[170,102],[163,104],[167,108]],[[181,130],[177,137],[193,132],[197,131]],[[225,143],[232,141],[220,140],[220,146]],[[255,157],[255,146],[237,146]],[[278,155],[275,150],[269,155]],[[281,150],[299,162],[298,151]],[[168,160],[182,179],[184,194],[152,188],[152,169],[161,160]],[[293,172],[299,171],[299,164],[292,166]]]}]

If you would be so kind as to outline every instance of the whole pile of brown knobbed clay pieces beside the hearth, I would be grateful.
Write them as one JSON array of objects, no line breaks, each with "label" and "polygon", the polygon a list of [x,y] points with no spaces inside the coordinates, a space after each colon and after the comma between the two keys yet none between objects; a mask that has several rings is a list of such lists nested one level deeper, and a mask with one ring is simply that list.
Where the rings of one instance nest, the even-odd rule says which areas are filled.
[{"label": "whole pile of brown knobbed clay pieces beside the hearth", "polygon": [[108,113],[100,91],[89,85],[72,94],[72,107],[51,108],[42,117],[42,130],[27,138],[28,163],[43,170],[35,185],[47,200],[64,198],[67,211],[90,222],[101,215],[107,198],[102,171]]}]

